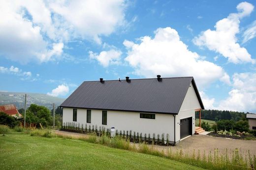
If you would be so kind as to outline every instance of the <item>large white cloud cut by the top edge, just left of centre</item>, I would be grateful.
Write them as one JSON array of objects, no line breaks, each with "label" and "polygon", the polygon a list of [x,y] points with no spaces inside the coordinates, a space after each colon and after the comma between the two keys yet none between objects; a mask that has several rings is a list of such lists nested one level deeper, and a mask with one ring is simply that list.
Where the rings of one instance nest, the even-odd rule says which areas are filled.
[{"label": "large white cloud cut by the top edge, just left of centre", "polygon": [[125,23],[124,0],[74,0],[50,3],[50,8],[66,23],[71,36],[93,39],[101,43],[101,35],[109,35]]}]

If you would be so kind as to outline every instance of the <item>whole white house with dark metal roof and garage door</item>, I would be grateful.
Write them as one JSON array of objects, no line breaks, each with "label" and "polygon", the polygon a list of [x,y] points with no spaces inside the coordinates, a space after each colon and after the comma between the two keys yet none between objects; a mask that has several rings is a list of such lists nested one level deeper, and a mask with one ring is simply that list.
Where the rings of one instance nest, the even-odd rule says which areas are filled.
[{"label": "whole white house with dark metal roof and garage door", "polygon": [[160,75],[85,81],[61,107],[64,123],[115,127],[151,137],[164,133],[174,144],[195,133],[195,112],[204,109],[193,77]]}]

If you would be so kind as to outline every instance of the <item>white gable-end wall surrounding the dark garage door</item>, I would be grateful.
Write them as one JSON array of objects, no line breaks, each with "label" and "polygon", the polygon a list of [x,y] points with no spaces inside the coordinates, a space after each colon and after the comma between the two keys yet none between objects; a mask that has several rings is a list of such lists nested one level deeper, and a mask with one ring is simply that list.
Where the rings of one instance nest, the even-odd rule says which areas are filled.
[{"label": "white gable-end wall surrounding the dark garage door", "polygon": [[192,83],[188,89],[188,92],[183,100],[180,111],[176,115],[176,142],[180,140],[180,120],[192,117],[192,134],[195,130],[195,109],[201,109],[200,103],[196,97]]}]

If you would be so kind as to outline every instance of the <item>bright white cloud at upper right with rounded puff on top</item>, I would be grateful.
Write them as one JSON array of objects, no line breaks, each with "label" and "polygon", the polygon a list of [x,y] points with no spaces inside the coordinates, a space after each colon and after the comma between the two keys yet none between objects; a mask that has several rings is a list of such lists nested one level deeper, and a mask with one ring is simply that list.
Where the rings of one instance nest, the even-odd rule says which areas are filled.
[{"label": "bright white cloud at upper right with rounded puff on top", "polygon": [[247,49],[240,47],[236,38],[236,34],[239,33],[240,19],[250,15],[254,6],[248,2],[241,2],[236,8],[238,13],[231,13],[227,18],[218,21],[215,25],[216,30],[203,31],[193,39],[193,43],[199,47],[205,46],[221,53],[232,63],[255,63],[251,54],[248,53]]}]

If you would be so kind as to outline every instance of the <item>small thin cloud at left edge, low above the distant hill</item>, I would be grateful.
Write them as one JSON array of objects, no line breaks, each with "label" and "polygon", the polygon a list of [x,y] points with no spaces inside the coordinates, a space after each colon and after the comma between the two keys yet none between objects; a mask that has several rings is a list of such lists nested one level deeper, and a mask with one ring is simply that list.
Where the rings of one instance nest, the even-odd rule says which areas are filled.
[{"label": "small thin cloud at left edge, low above the distant hill", "polygon": [[31,72],[23,72],[21,69],[11,66],[10,68],[0,67],[0,73],[14,74],[22,77],[21,80],[31,80]]}]

